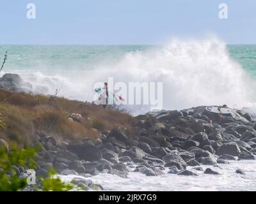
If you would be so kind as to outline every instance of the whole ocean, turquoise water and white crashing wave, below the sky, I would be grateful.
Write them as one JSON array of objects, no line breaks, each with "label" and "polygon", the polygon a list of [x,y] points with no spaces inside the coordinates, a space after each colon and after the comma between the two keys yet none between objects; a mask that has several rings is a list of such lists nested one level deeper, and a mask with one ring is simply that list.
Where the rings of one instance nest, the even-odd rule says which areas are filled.
[{"label": "whole ocean, turquoise water and white crashing wave, below the sky", "polygon": [[[255,108],[256,45],[170,40],[165,45],[0,45],[4,73],[33,91],[93,101],[97,82],[162,82],[163,109],[227,104]],[[145,110],[143,110],[145,112]]]}]

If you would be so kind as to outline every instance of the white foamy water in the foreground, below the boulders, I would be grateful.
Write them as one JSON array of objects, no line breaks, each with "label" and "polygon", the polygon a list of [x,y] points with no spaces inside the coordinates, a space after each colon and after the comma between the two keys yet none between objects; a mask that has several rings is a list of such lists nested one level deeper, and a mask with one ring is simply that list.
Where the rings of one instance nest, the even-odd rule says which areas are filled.
[{"label": "white foamy water in the foreground, below the boulders", "polygon": [[[104,191],[256,191],[256,161],[230,161],[230,164],[218,164],[223,168],[212,168],[221,175],[208,175],[195,171],[199,176],[180,176],[166,173],[159,177],[147,177],[141,173],[129,173],[128,179],[116,175],[99,174],[91,179],[104,187]],[[237,168],[246,175],[236,173]],[[191,167],[188,168],[190,170]],[[66,182],[76,175],[61,176]],[[83,177],[81,177],[83,178]]]}]

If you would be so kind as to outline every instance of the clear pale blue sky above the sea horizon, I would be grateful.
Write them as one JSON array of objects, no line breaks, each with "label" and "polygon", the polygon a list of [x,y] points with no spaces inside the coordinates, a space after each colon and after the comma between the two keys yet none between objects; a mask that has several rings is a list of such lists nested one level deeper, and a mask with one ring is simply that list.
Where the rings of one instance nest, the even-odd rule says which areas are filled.
[{"label": "clear pale blue sky above the sea horizon", "polygon": [[[220,3],[227,19],[218,16]],[[256,44],[255,11],[255,0],[1,0],[0,44],[154,45],[212,34]]]}]

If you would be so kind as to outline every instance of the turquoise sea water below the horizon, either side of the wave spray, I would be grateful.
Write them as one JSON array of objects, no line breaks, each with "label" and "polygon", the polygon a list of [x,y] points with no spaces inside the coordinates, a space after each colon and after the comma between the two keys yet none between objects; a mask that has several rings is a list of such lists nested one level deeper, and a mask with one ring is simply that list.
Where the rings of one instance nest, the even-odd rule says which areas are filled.
[{"label": "turquoise sea water below the horizon, either side of the wave spray", "polygon": [[[0,59],[8,51],[5,71],[86,71],[100,63],[118,61],[129,52],[153,45],[0,45]],[[256,77],[256,45],[227,45],[228,54]]]}]

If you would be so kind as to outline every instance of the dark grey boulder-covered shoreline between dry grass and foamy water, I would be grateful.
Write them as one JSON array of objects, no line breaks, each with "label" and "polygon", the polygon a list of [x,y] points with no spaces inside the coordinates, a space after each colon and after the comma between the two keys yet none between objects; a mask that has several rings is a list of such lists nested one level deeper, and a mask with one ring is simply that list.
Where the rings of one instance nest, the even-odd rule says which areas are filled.
[{"label": "dark grey boulder-covered shoreline between dry grass and foamy water", "polygon": [[[250,114],[236,110],[236,117],[220,116],[206,107],[138,115],[132,124],[132,135],[120,127],[101,131],[99,139],[83,142],[57,143],[54,136],[38,131],[34,143],[42,149],[36,158],[36,175],[47,175],[47,170],[54,168],[60,175],[83,176],[86,179],[75,178],[72,182],[93,189],[95,184],[90,177],[99,173],[127,178],[134,171],[156,177],[168,169],[172,174],[198,176],[195,171],[186,170],[194,166],[197,171],[218,175],[218,171],[202,165],[254,160],[256,122]],[[77,117],[83,120],[75,113],[70,120],[79,122]],[[234,173],[245,174],[241,169]],[[26,177],[26,173],[20,172],[20,176]]]}]

